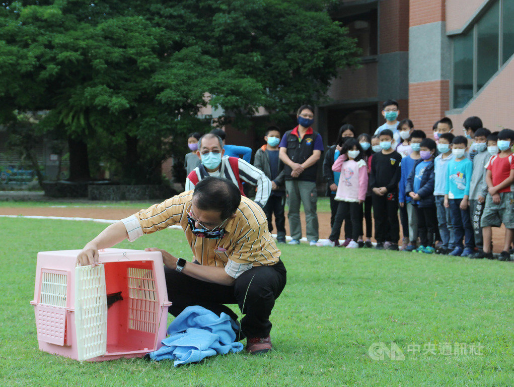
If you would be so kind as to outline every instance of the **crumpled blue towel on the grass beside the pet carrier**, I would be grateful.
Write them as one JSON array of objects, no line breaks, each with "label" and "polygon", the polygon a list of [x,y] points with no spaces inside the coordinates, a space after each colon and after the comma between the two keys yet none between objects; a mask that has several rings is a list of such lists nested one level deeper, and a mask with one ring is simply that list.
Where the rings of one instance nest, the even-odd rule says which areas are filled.
[{"label": "crumpled blue towel on the grass beside the pet carrier", "polygon": [[168,327],[162,347],[147,356],[159,361],[175,360],[173,365],[199,362],[208,356],[239,352],[243,344],[235,342],[236,323],[226,313],[217,316],[201,306],[188,306]]}]

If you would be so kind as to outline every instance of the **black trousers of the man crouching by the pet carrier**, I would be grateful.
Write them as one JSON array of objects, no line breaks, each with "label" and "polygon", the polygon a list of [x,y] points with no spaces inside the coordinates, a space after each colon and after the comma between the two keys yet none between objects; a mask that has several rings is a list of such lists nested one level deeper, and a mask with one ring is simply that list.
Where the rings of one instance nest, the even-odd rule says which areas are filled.
[{"label": "black trousers of the man crouching by the pet carrier", "polygon": [[164,275],[168,299],[172,302],[169,312],[175,317],[188,306],[199,305],[217,315],[225,312],[237,321],[237,315],[223,305],[237,304],[246,314],[241,320],[241,330],[249,338],[269,335],[271,309],[286,285],[286,268],[282,261],[245,271],[235,279],[233,286],[212,284],[168,268],[164,268]]}]

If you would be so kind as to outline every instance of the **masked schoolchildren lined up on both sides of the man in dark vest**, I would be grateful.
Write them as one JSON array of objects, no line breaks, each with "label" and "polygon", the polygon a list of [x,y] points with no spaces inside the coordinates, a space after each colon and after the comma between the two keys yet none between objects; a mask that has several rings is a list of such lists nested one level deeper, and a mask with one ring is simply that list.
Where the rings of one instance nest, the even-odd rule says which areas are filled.
[{"label": "masked schoolchildren lined up on both sides of the man in dark vest", "polygon": [[[382,110],[386,124],[373,136],[356,138],[352,125],[340,128],[323,161],[331,234],[316,245],[373,247],[373,213],[375,249],[492,259],[492,227],[503,223],[506,232],[498,259],[510,260],[514,131],[491,133],[479,117],[469,117],[464,135],[455,136],[451,119],[444,117],[434,124],[432,139],[415,130],[411,120],[398,121],[398,114],[398,103],[389,100]],[[266,165],[277,164],[266,168],[271,179],[280,172],[275,154],[280,135],[279,128],[268,128],[267,144],[258,151],[268,155],[261,157]],[[270,230],[275,216],[279,242],[285,242],[284,204],[284,191],[279,189],[265,207]]]}]

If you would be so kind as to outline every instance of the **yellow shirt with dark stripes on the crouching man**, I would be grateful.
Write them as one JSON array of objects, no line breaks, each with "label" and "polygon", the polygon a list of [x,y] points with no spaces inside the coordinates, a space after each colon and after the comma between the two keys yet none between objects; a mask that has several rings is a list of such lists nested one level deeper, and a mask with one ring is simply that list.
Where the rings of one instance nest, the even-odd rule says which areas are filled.
[{"label": "yellow shirt with dark stripes on the crouching man", "polygon": [[167,199],[137,214],[122,219],[133,241],[143,234],[151,234],[173,224],[179,224],[186,234],[191,250],[201,265],[224,267],[228,275],[237,278],[253,266],[274,265],[280,250],[273,240],[266,216],[261,207],[242,197],[241,204],[225,226],[222,239],[196,237],[188,225],[193,191]]}]

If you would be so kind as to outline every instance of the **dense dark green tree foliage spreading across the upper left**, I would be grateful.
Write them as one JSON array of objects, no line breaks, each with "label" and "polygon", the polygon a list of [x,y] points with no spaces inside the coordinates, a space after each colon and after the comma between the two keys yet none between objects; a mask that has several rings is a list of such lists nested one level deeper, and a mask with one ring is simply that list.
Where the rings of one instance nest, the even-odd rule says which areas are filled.
[{"label": "dense dark green tree foliage spreading across the upper left", "polygon": [[208,102],[228,113],[222,123],[244,126],[261,106],[281,120],[320,101],[357,54],[326,1],[2,4],[0,122],[48,110],[42,128],[62,128],[133,182],[159,179],[176,149],[162,139],[205,127]]}]

